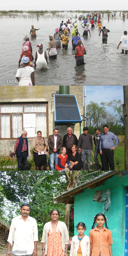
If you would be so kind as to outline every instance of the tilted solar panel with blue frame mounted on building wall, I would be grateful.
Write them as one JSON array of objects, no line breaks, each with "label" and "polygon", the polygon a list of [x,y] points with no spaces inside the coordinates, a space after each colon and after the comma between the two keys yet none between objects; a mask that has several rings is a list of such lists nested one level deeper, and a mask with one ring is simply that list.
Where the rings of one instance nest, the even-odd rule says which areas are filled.
[{"label": "tilted solar panel with blue frame mounted on building wall", "polygon": [[[59,98],[58,98],[59,97]],[[61,101],[61,97],[63,98],[63,100],[65,100],[65,102],[68,100],[68,97],[70,97],[70,102],[67,103],[63,103],[63,101]],[[70,111],[66,112],[64,110],[68,109]],[[54,95],[54,110],[55,110],[55,123],[82,123],[82,118],[81,118],[81,114],[80,114],[80,110],[79,110],[79,106],[78,106],[78,102],[76,99],[76,95],[75,94],[55,94]],[[75,111],[75,112],[74,112]],[[73,114],[72,114],[73,113]],[[74,118],[60,118],[59,115],[61,116],[66,116],[71,115],[71,117],[76,116],[76,119]]]}]

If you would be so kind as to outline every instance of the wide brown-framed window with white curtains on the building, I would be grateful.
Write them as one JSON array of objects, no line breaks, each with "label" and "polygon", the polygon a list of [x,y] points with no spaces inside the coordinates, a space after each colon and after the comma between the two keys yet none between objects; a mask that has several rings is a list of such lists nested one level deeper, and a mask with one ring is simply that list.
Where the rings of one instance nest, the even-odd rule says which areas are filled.
[{"label": "wide brown-framed window with white curtains on the building", "polygon": [[26,130],[28,138],[34,138],[38,130],[48,137],[48,104],[2,104],[1,139],[18,138]]}]

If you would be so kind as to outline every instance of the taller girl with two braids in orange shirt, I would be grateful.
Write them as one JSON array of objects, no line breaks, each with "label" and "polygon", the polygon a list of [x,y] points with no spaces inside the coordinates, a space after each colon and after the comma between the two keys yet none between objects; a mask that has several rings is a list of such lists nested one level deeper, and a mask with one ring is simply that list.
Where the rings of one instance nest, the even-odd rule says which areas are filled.
[{"label": "taller girl with two braids in orange shirt", "polygon": [[[95,228],[95,224],[97,224]],[[104,227],[105,224],[105,227]],[[107,226],[107,217],[103,213],[94,216],[94,223],[89,232],[90,236],[90,256],[112,256],[113,243],[111,231]]]}]

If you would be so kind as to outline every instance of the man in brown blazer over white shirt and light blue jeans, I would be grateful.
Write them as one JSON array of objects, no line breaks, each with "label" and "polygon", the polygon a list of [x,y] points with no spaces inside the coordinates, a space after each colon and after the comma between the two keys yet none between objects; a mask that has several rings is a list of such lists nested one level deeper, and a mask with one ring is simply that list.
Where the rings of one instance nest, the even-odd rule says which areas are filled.
[{"label": "man in brown blazer over white shirt and light blue jeans", "polygon": [[55,163],[55,171],[57,164],[57,157],[60,154],[60,148],[63,145],[62,137],[58,135],[59,130],[57,128],[54,129],[53,134],[48,138],[48,146],[49,146],[49,160],[50,160],[50,168],[51,171],[54,171],[54,163]]}]

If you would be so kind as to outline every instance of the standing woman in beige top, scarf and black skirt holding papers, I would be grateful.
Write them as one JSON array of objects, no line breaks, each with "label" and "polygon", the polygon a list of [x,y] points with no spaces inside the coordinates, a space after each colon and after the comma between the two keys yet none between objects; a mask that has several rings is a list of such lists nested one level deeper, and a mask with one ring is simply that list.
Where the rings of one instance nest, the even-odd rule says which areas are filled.
[{"label": "standing woman in beige top, scarf and black skirt holding papers", "polygon": [[[36,165],[36,171],[43,171],[44,164],[46,164],[46,149],[47,149],[47,142],[44,137],[42,137],[41,131],[37,131],[37,137],[33,140],[33,154],[34,154],[34,162]],[[44,152],[44,154],[42,154]],[[39,154],[38,154],[39,153]]]}]

